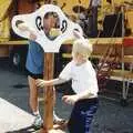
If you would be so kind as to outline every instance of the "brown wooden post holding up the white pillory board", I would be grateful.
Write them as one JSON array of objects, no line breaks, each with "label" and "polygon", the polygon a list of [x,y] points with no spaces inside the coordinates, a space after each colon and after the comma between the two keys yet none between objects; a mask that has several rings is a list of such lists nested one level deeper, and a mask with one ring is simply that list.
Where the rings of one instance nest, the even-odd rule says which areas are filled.
[{"label": "brown wooden post holding up the white pillory board", "polygon": [[[53,79],[54,53],[44,53],[44,80]],[[41,133],[53,129],[53,86],[44,89],[44,114]]]}]

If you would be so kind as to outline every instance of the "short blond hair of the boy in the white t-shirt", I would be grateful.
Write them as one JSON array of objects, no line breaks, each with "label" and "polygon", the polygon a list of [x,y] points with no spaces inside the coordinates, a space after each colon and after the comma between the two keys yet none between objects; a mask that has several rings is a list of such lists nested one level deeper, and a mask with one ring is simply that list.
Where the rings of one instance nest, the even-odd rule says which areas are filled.
[{"label": "short blond hair of the boy in the white t-shirt", "polygon": [[88,39],[78,39],[73,43],[72,54],[79,53],[88,59],[93,51],[92,43]]}]

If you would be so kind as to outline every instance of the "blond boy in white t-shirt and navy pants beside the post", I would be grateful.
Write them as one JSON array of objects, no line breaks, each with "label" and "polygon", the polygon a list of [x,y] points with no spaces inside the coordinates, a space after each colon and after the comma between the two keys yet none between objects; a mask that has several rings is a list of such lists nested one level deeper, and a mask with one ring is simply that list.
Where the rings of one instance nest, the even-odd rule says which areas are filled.
[{"label": "blond boy in white t-shirt and navy pants beside the post", "polygon": [[98,80],[95,71],[88,60],[92,53],[92,44],[74,31],[80,38],[74,41],[72,61],[66,64],[59,78],[53,80],[37,80],[37,86],[48,86],[72,80],[73,95],[64,95],[62,100],[74,105],[68,129],[70,133],[89,133],[94,113],[98,110]]}]

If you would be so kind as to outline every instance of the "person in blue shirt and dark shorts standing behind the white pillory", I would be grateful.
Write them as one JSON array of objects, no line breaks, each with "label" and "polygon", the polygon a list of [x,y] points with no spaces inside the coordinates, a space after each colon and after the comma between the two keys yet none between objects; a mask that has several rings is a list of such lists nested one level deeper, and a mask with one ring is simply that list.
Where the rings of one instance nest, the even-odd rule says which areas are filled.
[{"label": "person in blue shirt and dark shorts standing behind the white pillory", "polygon": [[[39,3],[35,4],[35,9],[40,7]],[[45,13],[43,18],[43,31],[48,38],[50,37],[50,30],[54,27],[55,24],[55,18],[52,12]],[[29,31],[30,33],[30,40],[29,40],[29,50],[28,50],[28,57],[27,57],[27,75],[28,75],[28,82],[29,82],[29,89],[30,89],[30,96],[29,96],[29,103],[31,111],[34,115],[34,121],[33,121],[33,126],[35,129],[40,129],[43,121],[40,115],[39,111],[39,102],[38,102],[38,89],[35,86],[35,80],[37,79],[43,79],[43,63],[44,63],[44,51],[41,48],[40,44],[35,42],[37,34],[34,31],[32,31],[27,23],[20,23],[18,24],[18,29],[23,31]],[[54,98],[54,103],[55,103],[55,90],[53,89],[53,98]],[[54,104],[53,103],[53,104]],[[60,119],[57,116],[57,114],[53,111],[53,122],[54,123],[60,123],[63,122],[64,120]]]}]

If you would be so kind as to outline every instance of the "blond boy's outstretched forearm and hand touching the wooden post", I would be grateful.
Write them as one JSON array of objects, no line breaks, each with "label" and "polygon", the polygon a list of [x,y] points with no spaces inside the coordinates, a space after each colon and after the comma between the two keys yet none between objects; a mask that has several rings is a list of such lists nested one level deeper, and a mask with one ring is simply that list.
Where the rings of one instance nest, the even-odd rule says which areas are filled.
[{"label": "blond boy's outstretched forearm and hand touching the wooden post", "polygon": [[60,78],[52,79],[52,80],[38,79],[35,81],[35,84],[37,84],[38,88],[44,88],[44,86],[50,86],[50,85],[58,85],[58,84],[61,84],[61,83],[64,83],[64,82],[65,82],[65,80],[60,79]]}]

